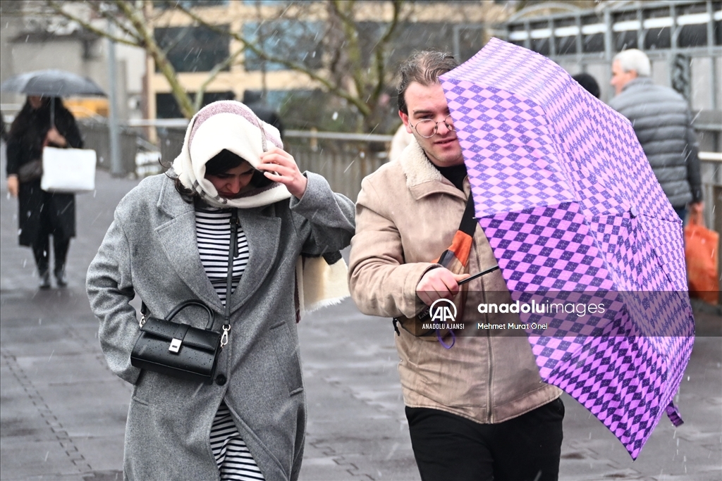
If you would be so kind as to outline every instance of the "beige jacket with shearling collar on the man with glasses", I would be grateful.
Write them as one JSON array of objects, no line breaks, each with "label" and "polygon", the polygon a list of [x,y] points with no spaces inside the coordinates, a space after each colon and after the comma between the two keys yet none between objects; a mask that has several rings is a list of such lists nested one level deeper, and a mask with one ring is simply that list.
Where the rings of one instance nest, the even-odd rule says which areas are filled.
[{"label": "beige jacket with shearling collar on the man with glasses", "polygon": [[[468,178],[461,192],[431,164],[416,141],[398,161],[363,180],[349,265],[349,288],[361,312],[381,317],[417,313],[416,287],[427,270],[438,266],[431,261],[451,244],[469,192]],[[477,228],[469,273],[495,264],[490,244]],[[498,314],[479,314],[479,301],[487,295],[510,299],[499,270],[471,281],[469,290],[464,322],[493,323]],[[479,331],[476,337],[457,337],[451,349],[403,329],[395,337],[401,387],[409,407],[431,407],[478,423],[500,423],[561,394],[541,381],[524,336]]]}]

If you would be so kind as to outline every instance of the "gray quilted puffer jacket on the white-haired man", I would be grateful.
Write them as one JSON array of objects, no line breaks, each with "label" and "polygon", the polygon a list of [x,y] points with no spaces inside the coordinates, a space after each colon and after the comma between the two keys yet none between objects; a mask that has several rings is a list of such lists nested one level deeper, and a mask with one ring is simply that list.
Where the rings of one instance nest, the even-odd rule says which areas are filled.
[{"label": "gray quilted puffer jacket on the white-haired man", "polygon": [[632,123],[654,175],[672,207],[702,200],[699,147],[682,95],[649,77],[630,81],[609,102]]}]

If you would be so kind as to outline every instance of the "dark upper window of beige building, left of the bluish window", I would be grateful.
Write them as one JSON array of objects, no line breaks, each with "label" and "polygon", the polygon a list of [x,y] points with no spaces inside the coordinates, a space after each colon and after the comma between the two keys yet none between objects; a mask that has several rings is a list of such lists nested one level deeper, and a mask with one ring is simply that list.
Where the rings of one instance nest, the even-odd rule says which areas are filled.
[{"label": "dark upper window of beige building, left of the bluish window", "polygon": [[230,55],[228,36],[208,27],[157,28],[153,35],[178,72],[207,72]]}]

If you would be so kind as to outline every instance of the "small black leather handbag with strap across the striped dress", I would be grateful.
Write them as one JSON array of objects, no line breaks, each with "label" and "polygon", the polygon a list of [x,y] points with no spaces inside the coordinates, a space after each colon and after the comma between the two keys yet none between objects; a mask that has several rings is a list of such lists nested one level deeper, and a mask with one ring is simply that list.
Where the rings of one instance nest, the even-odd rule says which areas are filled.
[{"label": "small black leather handbag with strap across the striped dress", "polygon": [[[168,376],[210,384],[216,371],[218,355],[228,343],[230,331],[230,293],[233,257],[238,255],[238,212],[233,210],[230,219],[228,249],[228,276],[226,305],[222,332],[212,330],[213,312],[201,301],[184,301],[170,310],[165,319],[148,317],[146,306],[141,309],[140,335],[131,352],[131,365]],[[201,306],[208,313],[205,329],[173,322],[173,317],[188,306]]]}]

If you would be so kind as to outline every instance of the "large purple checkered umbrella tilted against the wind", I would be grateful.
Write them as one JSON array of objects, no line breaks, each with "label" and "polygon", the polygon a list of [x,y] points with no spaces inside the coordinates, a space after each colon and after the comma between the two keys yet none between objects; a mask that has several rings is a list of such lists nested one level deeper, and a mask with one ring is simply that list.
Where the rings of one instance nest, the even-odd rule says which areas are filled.
[{"label": "large purple checkered umbrella tilted against the wind", "polygon": [[681,221],[632,125],[556,63],[497,39],[441,80],[541,378],[636,459],[663,412],[682,423],[672,398],[694,322]]}]

